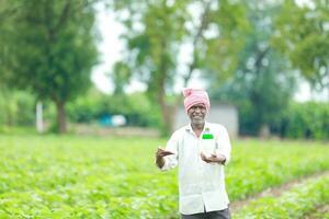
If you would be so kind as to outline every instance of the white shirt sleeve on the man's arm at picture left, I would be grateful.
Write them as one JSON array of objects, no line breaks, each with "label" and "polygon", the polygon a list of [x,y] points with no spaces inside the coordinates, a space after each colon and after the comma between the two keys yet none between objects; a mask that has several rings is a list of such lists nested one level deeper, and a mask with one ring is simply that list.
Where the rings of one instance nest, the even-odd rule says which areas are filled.
[{"label": "white shirt sleeve on the man's arm at picture left", "polygon": [[166,146],[166,150],[173,152],[173,154],[164,157],[164,165],[160,169],[161,171],[167,171],[178,165],[178,145],[179,135],[174,132]]}]

